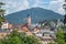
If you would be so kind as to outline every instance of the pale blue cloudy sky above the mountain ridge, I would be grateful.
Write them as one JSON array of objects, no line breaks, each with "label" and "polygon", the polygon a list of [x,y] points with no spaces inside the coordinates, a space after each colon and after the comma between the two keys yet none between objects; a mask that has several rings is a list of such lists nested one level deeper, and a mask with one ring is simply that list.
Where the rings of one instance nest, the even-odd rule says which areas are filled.
[{"label": "pale blue cloudy sky above the mountain ridge", "polygon": [[0,0],[4,2],[6,14],[14,13],[31,8],[43,8],[64,15],[64,0]]}]

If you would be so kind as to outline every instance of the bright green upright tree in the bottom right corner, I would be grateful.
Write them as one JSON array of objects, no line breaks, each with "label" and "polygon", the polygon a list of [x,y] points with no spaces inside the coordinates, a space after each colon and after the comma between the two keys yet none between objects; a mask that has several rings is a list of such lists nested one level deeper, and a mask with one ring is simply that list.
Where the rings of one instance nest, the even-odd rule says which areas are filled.
[{"label": "bright green upright tree in the bottom right corner", "polygon": [[64,32],[63,32],[62,29],[58,29],[58,30],[57,30],[55,42],[56,42],[57,44],[66,44],[65,41],[64,41]]}]

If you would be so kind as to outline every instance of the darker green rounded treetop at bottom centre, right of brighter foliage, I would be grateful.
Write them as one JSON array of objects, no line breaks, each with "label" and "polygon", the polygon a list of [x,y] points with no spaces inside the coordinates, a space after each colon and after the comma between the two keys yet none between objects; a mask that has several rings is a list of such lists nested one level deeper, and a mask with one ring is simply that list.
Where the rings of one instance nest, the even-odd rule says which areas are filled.
[{"label": "darker green rounded treetop at bottom centre, right of brighter foliage", "polygon": [[22,38],[22,44],[41,44],[36,36],[30,35]]}]

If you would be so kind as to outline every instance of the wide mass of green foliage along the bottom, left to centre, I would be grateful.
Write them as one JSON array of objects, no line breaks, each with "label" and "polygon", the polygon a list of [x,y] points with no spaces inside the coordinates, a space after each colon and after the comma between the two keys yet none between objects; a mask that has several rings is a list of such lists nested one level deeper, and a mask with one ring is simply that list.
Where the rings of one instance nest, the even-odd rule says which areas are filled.
[{"label": "wide mass of green foliage along the bottom, left to centre", "polygon": [[36,36],[20,33],[16,30],[7,35],[2,42],[3,44],[41,44]]}]

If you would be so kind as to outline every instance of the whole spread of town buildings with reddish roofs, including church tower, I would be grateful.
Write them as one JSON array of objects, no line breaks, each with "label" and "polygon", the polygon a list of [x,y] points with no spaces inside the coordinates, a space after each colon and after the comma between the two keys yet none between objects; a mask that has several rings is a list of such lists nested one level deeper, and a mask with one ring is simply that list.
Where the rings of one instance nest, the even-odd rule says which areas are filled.
[{"label": "whole spread of town buildings with reddish roofs, including church tower", "polygon": [[23,24],[10,24],[9,22],[2,22],[2,32],[0,32],[0,36],[2,37],[16,29],[19,32],[25,32],[28,35],[36,35],[43,44],[48,44],[54,42],[54,38],[56,38],[55,31],[59,25],[62,25],[59,20],[57,22],[48,21],[48,23],[43,22],[32,24],[31,16],[28,14],[26,23]]}]

